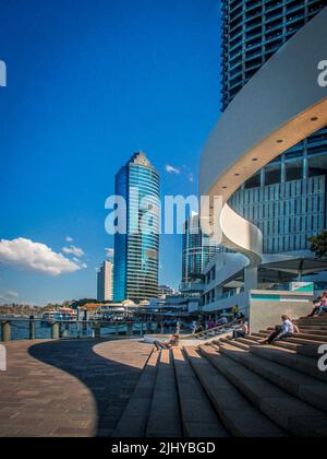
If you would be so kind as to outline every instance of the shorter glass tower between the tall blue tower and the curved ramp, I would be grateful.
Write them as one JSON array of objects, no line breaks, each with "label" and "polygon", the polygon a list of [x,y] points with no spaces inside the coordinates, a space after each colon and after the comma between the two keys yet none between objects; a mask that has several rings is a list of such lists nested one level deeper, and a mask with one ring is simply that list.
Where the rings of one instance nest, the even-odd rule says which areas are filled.
[{"label": "shorter glass tower between the tall blue tower and the curved ramp", "polygon": [[219,250],[202,232],[198,215],[190,216],[184,224],[182,284],[202,281],[204,268]]}]

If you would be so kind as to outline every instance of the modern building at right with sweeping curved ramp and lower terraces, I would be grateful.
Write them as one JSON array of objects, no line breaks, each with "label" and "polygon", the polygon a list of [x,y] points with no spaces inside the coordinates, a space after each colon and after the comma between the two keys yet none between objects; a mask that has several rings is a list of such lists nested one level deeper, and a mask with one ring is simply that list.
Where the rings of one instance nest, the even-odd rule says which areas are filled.
[{"label": "modern building at right with sweeping curved ramp and lower terraces", "polygon": [[[242,4],[245,25],[252,17],[247,8],[259,8],[263,34],[268,4],[278,19],[280,5],[290,11],[290,4],[299,9],[300,3],[223,2],[225,31],[237,5]],[[307,250],[307,237],[326,228],[327,92],[317,82],[317,63],[327,54],[327,8],[307,1],[304,11],[313,13],[313,3],[322,7],[315,17],[307,16],[282,49],[244,81],[238,96],[227,98],[203,152],[199,191],[222,199],[219,226],[228,249],[205,269],[203,311],[226,313],[239,305],[277,319],[281,311],[299,317],[299,303],[307,307],[313,298],[311,281],[322,289],[326,279],[326,260]],[[202,213],[205,220],[214,216],[211,210]]]}]

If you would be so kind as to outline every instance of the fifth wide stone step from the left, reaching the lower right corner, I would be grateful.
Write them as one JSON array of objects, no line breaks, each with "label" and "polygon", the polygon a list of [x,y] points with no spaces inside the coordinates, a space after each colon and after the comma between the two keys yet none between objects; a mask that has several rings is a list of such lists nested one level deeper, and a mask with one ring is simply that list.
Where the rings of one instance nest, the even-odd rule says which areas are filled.
[{"label": "fifth wide stone step from the left, reaching the lower right corner", "polygon": [[326,437],[327,416],[265,380],[227,355],[201,348],[201,352],[251,402],[295,437]]}]

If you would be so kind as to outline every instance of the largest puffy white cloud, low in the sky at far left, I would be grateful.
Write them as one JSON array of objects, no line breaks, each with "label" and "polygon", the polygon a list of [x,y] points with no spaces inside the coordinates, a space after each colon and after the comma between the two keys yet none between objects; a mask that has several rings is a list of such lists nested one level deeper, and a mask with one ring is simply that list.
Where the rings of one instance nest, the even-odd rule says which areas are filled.
[{"label": "largest puffy white cloud, low in the sky at far left", "polygon": [[0,262],[48,275],[72,273],[84,268],[81,262],[69,260],[45,244],[23,237],[0,240]]}]

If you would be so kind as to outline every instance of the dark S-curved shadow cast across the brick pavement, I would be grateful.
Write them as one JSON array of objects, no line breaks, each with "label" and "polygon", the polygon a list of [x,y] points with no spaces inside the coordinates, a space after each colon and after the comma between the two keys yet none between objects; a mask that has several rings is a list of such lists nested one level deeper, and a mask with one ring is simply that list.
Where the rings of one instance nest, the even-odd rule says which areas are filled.
[{"label": "dark S-curved shadow cast across the brick pavement", "polygon": [[104,339],[49,341],[37,343],[28,351],[34,358],[65,372],[88,388],[96,403],[95,436],[101,437],[109,437],[113,432],[142,373],[140,367],[106,358],[94,351],[97,344],[109,341],[112,343]]}]

